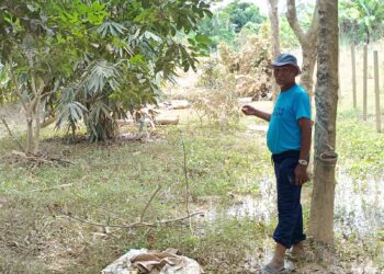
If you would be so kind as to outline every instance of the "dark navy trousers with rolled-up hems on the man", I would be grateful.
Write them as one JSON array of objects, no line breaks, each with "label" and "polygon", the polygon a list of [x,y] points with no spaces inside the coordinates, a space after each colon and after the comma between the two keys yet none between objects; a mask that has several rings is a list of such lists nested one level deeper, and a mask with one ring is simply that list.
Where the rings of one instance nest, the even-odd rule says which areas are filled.
[{"label": "dark navy trousers with rolled-up hems on the man", "polygon": [[273,232],[273,239],[286,249],[305,240],[303,210],[300,203],[302,186],[295,185],[294,174],[298,158],[298,150],[287,150],[272,156],[278,184],[279,212],[279,224]]}]

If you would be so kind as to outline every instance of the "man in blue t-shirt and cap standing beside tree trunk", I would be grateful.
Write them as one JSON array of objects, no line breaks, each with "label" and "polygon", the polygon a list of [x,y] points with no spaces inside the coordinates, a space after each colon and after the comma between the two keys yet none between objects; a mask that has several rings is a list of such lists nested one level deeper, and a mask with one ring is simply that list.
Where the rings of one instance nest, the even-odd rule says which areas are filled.
[{"label": "man in blue t-shirt and cap standing beside tree trunk", "polygon": [[272,152],[278,185],[279,224],[273,232],[276,242],[274,255],[261,273],[284,271],[284,254],[292,247],[292,253],[304,255],[303,212],[301,205],[302,184],[307,182],[312,137],[310,102],[305,90],[296,84],[301,70],[297,59],[282,54],[272,61],[273,75],[280,87],[272,114],[242,106],[246,115],[253,115],[270,122],[267,145]]}]

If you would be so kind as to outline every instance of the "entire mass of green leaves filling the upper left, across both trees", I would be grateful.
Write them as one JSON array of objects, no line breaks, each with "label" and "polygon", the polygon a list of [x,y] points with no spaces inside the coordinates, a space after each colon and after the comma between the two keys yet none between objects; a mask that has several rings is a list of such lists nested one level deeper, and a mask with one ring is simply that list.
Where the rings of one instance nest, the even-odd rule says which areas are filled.
[{"label": "entire mass of green leaves filling the upper left, across both trees", "polygon": [[[195,69],[211,43],[197,32],[211,15],[205,1],[31,0],[0,8],[1,59],[10,62],[12,53],[12,69],[29,87],[25,55],[33,53],[46,113],[58,113],[57,126],[68,123],[72,133],[84,119],[91,141],[113,137],[114,118],[156,103],[160,83],[178,67]],[[180,34],[190,38],[179,42]]]}]

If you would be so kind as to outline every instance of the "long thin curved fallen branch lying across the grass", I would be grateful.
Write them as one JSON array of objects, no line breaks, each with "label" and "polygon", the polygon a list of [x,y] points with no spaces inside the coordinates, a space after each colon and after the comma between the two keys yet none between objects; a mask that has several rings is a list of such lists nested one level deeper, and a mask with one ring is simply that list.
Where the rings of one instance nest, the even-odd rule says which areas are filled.
[{"label": "long thin curved fallen branch lying across the grass", "polygon": [[156,222],[142,222],[142,221],[136,221],[136,222],[133,222],[133,224],[122,224],[122,225],[106,225],[106,224],[100,224],[100,222],[93,222],[93,221],[89,221],[89,220],[84,220],[84,219],[81,219],[79,217],[75,217],[75,216],[71,216],[70,214],[67,214],[60,209],[57,209],[56,208],[56,212],[58,212],[59,214],[70,218],[70,219],[75,219],[75,220],[78,220],[80,222],[83,222],[83,224],[87,224],[87,225],[91,225],[91,226],[95,226],[95,227],[111,227],[111,228],[139,228],[139,227],[156,227],[156,226],[160,226],[160,225],[167,225],[167,224],[171,224],[171,222],[176,222],[176,221],[181,221],[181,220],[184,220],[184,219],[188,219],[188,218],[191,218],[195,215],[203,215],[204,213],[203,212],[196,212],[196,213],[193,213],[193,214],[190,214],[188,216],[184,216],[184,217],[180,217],[180,218],[174,218],[174,219],[168,219],[168,220],[159,220],[159,221],[156,221]]}]

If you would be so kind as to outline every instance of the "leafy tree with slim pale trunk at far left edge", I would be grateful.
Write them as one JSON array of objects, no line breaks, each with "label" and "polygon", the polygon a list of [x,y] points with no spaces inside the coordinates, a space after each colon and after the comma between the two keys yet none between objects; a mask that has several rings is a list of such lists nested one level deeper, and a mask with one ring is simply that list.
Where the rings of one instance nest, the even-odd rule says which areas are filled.
[{"label": "leafy tree with slim pale trunk at far left edge", "polygon": [[71,43],[57,43],[63,35],[45,1],[7,1],[0,5],[0,59],[4,64],[8,89],[20,99],[26,121],[27,152],[38,152],[43,101],[54,96],[70,69]]}]

